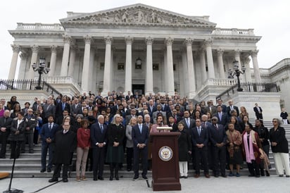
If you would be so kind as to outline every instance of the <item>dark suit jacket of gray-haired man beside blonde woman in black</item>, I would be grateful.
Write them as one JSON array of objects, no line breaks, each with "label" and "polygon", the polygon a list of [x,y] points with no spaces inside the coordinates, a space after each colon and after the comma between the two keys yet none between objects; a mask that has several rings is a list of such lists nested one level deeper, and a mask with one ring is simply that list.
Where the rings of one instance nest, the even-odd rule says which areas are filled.
[{"label": "dark suit jacket of gray-haired man beside blonde woman in black", "polygon": [[91,142],[92,148],[96,148],[96,143],[107,143],[107,131],[108,127],[106,124],[103,124],[103,133],[101,132],[101,127],[98,123],[94,123],[91,127]]}]

